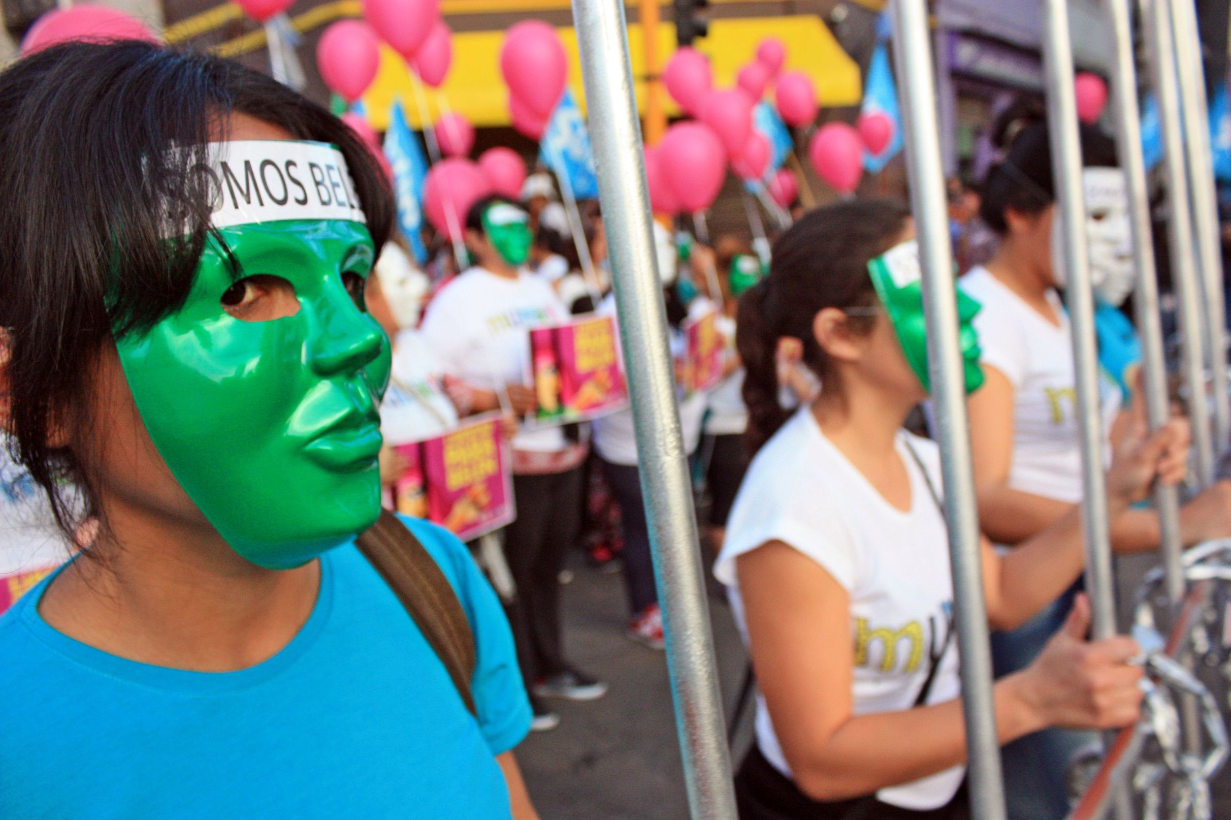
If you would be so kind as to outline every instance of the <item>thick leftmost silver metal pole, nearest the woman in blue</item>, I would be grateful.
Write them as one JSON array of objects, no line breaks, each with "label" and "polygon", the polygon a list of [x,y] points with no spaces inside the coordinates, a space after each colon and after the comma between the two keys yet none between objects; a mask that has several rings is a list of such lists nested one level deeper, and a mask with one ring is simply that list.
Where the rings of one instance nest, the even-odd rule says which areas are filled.
[{"label": "thick leftmost silver metal pole, nearest the woman in blue", "polygon": [[603,223],[612,238],[624,361],[636,362],[628,380],[688,803],[694,820],[735,820],[692,483],[650,228],[624,4],[572,0],[572,18],[581,47]]}]

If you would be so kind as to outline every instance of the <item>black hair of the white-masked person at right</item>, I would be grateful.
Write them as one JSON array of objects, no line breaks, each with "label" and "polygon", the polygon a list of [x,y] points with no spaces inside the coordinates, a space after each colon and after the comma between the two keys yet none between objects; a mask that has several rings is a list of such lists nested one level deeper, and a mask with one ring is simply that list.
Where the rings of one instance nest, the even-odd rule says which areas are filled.
[{"label": "black hair of the white-masked person at right", "polygon": [[[1117,165],[1115,143],[1097,126],[1081,123],[1082,161]],[[1008,233],[1009,211],[1038,214],[1056,201],[1046,112],[1033,101],[1009,106],[992,128],[992,144],[1004,158],[984,180],[979,215],[1000,235]]]}]

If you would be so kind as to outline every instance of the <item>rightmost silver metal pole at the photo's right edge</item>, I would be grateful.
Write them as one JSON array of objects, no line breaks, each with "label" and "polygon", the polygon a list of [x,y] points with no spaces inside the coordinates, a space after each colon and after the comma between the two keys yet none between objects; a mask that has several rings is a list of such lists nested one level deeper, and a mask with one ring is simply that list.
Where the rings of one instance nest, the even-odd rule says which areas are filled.
[{"label": "rightmost silver metal pole at the photo's right edge", "polygon": [[1205,357],[1214,394],[1214,459],[1231,443],[1231,395],[1227,394],[1226,293],[1222,286],[1222,243],[1219,236],[1219,196],[1214,185],[1210,112],[1205,101],[1205,69],[1197,30],[1197,4],[1171,0],[1181,113],[1188,150],[1188,185],[1193,197],[1197,261],[1205,294]]}]

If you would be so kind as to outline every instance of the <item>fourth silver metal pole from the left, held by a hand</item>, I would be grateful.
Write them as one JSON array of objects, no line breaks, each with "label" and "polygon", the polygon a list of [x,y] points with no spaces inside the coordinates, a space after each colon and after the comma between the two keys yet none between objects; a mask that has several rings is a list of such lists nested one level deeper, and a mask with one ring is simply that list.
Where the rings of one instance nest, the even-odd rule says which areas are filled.
[{"label": "fourth silver metal pole from the left, held by a hand", "polygon": [[[1141,110],[1137,105],[1137,68],[1129,26],[1130,0],[1104,0],[1112,30],[1115,142],[1120,167],[1128,181],[1129,219],[1133,225],[1133,261],[1137,284],[1133,292],[1137,335],[1141,337],[1141,374],[1146,419],[1151,430],[1167,424],[1171,403],[1167,399],[1167,362],[1163,355],[1162,321],[1158,313],[1157,260],[1150,223],[1150,187],[1146,182],[1145,155],[1141,150]],[[1158,484],[1155,488],[1158,512],[1160,557],[1167,574],[1167,593],[1172,605],[1184,597],[1183,542],[1179,534],[1179,489]]]}]

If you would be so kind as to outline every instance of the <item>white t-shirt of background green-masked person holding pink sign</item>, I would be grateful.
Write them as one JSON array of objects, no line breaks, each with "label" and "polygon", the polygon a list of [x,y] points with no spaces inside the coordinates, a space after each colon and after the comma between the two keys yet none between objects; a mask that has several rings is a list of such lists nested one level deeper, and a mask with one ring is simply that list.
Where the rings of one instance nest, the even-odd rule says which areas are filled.
[{"label": "white t-shirt of background green-masked person holding pink sign", "polygon": [[[471,267],[432,299],[421,332],[444,373],[491,390],[526,384],[531,329],[567,319],[551,286],[533,273],[512,279]],[[522,431],[513,438],[513,449],[538,453],[566,446],[560,427]]]}]

